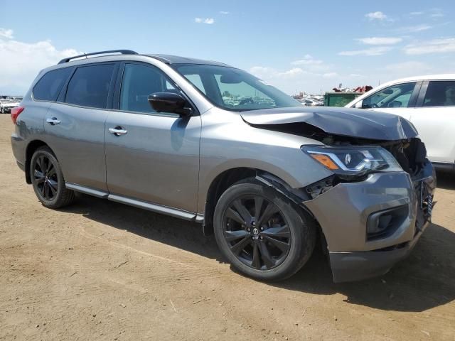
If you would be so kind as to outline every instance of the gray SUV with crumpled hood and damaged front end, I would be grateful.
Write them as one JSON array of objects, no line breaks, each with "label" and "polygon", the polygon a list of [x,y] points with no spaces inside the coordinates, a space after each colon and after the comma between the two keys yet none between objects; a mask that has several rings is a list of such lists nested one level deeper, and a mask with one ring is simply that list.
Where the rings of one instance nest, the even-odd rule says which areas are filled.
[{"label": "gray SUV with crumpled hood and damaged front end", "polygon": [[260,280],[295,274],[316,243],[334,281],[385,274],[432,214],[433,168],[409,121],[303,107],[223,63],[66,58],[11,117],[14,156],[43,206],[76,191],[200,222]]}]

